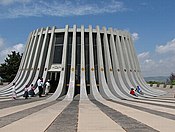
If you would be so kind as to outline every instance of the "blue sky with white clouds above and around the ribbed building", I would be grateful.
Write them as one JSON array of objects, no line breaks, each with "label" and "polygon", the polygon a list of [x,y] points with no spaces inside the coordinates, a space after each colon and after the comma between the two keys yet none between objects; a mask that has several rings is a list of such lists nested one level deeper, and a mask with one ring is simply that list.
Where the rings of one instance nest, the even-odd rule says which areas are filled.
[{"label": "blue sky with white clouds above and around the ribbed building", "polygon": [[142,75],[175,73],[174,0],[0,0],[0,63],[22,53],[37,28],[92,25],[127,30]]}]

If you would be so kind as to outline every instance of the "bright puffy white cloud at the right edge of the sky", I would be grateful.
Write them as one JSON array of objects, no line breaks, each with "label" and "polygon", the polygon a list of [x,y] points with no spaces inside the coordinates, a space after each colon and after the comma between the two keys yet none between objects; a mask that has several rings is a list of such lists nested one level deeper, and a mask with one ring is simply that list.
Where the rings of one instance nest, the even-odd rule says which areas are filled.
[{"label": "bright puffy white cloud at the right edge of the sky", "polygon": [[159,54],[175,53],[175,39],[167,42],[166,45],[156,46],[156,52]]}]

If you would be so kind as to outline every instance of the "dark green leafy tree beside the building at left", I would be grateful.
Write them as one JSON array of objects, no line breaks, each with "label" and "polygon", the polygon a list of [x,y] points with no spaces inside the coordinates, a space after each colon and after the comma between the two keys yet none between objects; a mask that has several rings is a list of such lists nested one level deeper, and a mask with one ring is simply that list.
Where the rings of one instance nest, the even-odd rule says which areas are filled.
[{"label": "dark green leafy tree beside the building at left", "polygon": [[4,60],[5,63],[0,65],[0,76],[7,82],[13,81],[18,71],[22,54],[16,51],[12,51],[8,54],[8,57]]}]

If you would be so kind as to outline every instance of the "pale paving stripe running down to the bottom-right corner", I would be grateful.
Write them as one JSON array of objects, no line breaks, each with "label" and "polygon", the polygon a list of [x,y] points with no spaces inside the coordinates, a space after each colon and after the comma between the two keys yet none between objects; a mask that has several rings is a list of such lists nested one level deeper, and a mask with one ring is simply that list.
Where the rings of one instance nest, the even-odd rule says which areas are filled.
[{"label": "pale paving stripe running down to the bottom-right corner", "polygon": [[140,111],[140,110],[130,108],[127,106],[123,106],[123,105],[113,103],[110,101],[103,101],[101,103],[139,122],[142,122],[158,131],[174,132],[175,130],[174,120],[167,119],[161,116],[157,116],[157,115],[154,115],[148,112]]}]

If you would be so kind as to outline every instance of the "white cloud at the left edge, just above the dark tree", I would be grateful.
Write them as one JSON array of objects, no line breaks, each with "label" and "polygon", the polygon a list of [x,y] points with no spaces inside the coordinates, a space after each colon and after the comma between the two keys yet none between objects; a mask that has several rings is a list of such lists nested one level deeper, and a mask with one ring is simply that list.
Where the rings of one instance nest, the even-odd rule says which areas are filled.
[{"label": "white cloud at the left edge, just above the dark tree", "polygon": [[10,54],[12,51],[23,53],[25,48],[24,44],[16,44],[12,47],[8,47],[5,49],[0,50],[0,64],[4,63],[4,59],[7,57],[8,54]]}]

